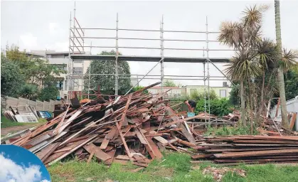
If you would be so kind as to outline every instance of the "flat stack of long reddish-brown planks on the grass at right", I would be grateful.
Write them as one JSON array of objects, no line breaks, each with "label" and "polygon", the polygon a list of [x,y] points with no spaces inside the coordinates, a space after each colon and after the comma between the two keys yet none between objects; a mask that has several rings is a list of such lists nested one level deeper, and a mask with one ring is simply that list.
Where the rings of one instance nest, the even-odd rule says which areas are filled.
[{"label": "flat stack of long reddish-brown planks on the grass at right", "polygon": [[193,148],[199,151],[193,159],[225,165],[298,162],[298,137],[293,136],[206,137]]}]

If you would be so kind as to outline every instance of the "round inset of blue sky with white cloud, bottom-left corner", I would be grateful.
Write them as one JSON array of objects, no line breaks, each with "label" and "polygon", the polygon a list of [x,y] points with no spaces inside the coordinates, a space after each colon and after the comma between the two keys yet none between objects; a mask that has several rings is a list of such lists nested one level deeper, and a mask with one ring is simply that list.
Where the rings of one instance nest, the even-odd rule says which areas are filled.
[{"label": "round inset of blue sky with white cloud, bottom-left corner", "polygon": [[0,145],[0,164],[0,182],[50,182],[41,160],[19,146]]}]

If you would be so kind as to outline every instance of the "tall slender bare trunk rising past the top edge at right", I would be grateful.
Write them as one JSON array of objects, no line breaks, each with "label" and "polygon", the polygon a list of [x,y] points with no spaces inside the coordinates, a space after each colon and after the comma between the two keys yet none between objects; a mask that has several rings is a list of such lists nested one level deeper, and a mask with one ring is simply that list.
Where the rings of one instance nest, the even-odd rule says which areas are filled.
[{"label": "tall slender bare trunk rising past the top edge at right", "polygon": [[[280,28],[280,1],[275,0],[275,33],[277,43],[277,60],[282,61],[282,31]],[[286,95],[284,91],[284,73],[282,66],[279,66],[277,70],[277,82],[280,90],[280,109],[282,111],[282,127],[289,128],[289,122],[287,119],[287,105]]]}]

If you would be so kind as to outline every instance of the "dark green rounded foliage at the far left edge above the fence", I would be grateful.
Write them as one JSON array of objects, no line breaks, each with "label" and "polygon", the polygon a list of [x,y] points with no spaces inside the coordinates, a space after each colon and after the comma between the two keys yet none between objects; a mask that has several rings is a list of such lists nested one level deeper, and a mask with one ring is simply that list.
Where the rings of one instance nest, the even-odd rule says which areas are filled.
[{"label": "dark green rounded foliage at the far left edge above the fence", "polygon": [[1,97],[17,97],[23,83],[19,66],[1,55]]}]

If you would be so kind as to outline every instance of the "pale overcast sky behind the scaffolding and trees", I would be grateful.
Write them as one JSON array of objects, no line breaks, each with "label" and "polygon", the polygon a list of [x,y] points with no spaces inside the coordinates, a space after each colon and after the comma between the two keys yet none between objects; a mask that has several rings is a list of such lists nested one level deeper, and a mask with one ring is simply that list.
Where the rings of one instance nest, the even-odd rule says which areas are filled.
[{"label": "pale overcast sky behind the scaffolding and trees", "polygon": [[[21,49],[68,51],[70,11],[74,1],[1,1],[1,48],[6,44],[17,44]],[[76,1],[75,17],[83,28],[115,28],[116,15],[119,16],[119,28],[159,30],[164,16],[164,30],[219,31],[223,21],[238,21],[247,6],[267,4],[270,6],[264,14],[262,36],[275,40],[274,1]],[[280,1],[282,45],[287,49],[298,49],[298,1]],[[73,22],[72,22],[73,23]],[[122,38],[160,38],[160,33],[119,31]],[[116,31],[86,30],[87,37],[115,37]],[[216,40],[218,34],[209,34],[209,40]],[[165,39],[206,40],[205,33],[164,33]],[[86,39],[85,45],[90,45]],[[92,45],[115,46],[115,40],[92,39]],[[119,46],[159,47],[160,41],[119,40]],[[209,43],[210,58],[231,58],[233,51],[220,43]],[[165,48],[206,48],[205,42],[165,41]],[[109,48],[92,48],[97,54]],[[85,48],[90,51],[90,48]],[[159,56],[160,50],[124,49],[123,55]],[[164,50],[165,56],[203,57],[203,50]],[[206,53],[205,53],[206,56]],[[156,63],[129,62],[131,74],[145,75]],[[224,70],[224,64],[217,64]],[[164,63],[165,75],[203,76],[201,63]],[[209,65],[212,76],[222,76]],[[207,65],[206,65],[207,74]],[[157,65],[150,75],[160,75]],[[156,77],[159,78],[159,77]],[[181,78],[181,77],[180,77]],[[190,78],[190,77],[188,77]],[[193,78],[193,77],[192,77]],[[221,79],[221,78],[220,78]],[[149,85],[159,80],[144,80],[141,85]],[[174,80],[181,85],[203,85],[202,80]],[[223,81],[211,80],[210,85],[222,86]]]}]

